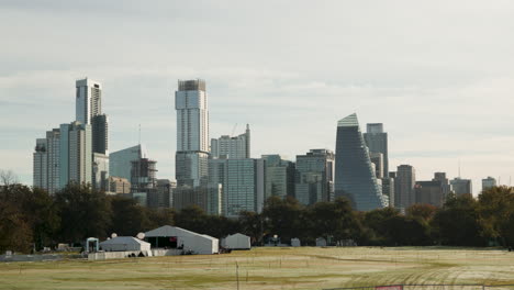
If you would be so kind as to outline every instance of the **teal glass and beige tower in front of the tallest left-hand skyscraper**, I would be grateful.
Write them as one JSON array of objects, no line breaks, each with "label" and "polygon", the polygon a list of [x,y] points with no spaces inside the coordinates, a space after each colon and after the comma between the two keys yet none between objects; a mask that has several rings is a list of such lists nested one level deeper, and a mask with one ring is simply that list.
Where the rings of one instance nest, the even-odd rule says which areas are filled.
[{"label": "teal glass and beige tower in front of the tallest left-hand skyscraper", "polygon": [[69,182],[91,183],[91,125],[75,121],[60,125],[60,188]]}]

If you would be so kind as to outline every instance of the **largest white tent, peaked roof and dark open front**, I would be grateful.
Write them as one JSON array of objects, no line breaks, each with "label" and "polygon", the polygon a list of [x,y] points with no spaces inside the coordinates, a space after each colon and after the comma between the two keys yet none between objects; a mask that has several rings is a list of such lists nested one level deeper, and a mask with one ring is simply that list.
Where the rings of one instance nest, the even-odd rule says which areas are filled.
[{"label": "largest white tent, peaked roof and dark open front", "polygon": [[[192,250],[193,254],[209,255],[220,252],[217,238],[171,225],[164,225],[146,232],[145,239],[150,242],[154,247],[176,247],[186,252]],[[172,243],[169,243],[169,241],[172,241]]]}]

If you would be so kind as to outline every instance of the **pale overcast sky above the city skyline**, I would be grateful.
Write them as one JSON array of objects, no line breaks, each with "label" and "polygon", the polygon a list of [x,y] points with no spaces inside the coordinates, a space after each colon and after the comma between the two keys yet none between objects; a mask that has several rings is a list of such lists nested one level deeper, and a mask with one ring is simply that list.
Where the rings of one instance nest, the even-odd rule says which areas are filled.
[{"label": "pale overcast sky above the city skyline", "polygon": [[175,179],[178,79],[208,83],[210,134],[252,155],[335,149],[336,124],[389,133],[390,168],[473,191],[514,174],[514,2],[0,1],[0,169],[32,185],[35,138],[103,86],[111,152],[142,143]]}]

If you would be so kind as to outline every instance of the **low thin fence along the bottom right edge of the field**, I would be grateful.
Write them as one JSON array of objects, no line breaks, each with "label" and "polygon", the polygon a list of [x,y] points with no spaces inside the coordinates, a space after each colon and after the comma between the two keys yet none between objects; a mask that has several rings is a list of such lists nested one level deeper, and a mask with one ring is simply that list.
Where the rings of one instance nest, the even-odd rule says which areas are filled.
[{"label": "low thin fence along the bottom right edge of the field", "polygon": [[384,285],[324,290],[514,290],[514,285]]}]

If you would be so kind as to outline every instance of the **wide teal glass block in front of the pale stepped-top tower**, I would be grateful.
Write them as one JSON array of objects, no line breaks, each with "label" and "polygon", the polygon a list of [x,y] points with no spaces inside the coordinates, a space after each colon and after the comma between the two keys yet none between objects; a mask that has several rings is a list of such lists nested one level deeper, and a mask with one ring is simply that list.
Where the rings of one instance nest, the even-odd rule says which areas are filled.
[{"label": "wide teal glass block in front of the pale stepped-top tower", "polygon": [[265,196],[265,160],[226,159],[223,213],[237,217],[242,211],[261,212]]}]

